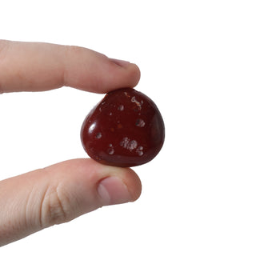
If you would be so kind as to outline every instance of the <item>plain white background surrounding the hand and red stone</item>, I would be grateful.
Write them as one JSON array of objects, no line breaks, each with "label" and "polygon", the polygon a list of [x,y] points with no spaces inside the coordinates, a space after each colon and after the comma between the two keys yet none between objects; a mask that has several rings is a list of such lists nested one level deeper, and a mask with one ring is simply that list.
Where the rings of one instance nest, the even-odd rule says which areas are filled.
[{"label": "plain white background surrounding the hand and red stone", "polygon": [[[255,13],[247,0],[0,1],[0,38],[137,63],[137,90],[166,123],[161,153],[134,168],[138,202],[42,230],[0,254],[255,255]],[[80,127],[101,98],[70,88],[0,95],[0,178],[85,157]]]}]

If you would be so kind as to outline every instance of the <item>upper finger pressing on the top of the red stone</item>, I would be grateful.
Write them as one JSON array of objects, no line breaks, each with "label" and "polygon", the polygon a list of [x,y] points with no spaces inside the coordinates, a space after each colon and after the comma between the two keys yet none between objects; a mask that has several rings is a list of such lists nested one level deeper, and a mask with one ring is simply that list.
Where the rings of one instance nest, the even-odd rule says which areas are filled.
[{"label": "upper finger pressing on the top of the red stone", "polygon": [[96,93],[136,86],[138,66],[78,46],[0,40],[0,92],[71,86]]}]

